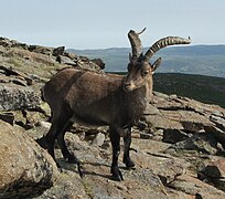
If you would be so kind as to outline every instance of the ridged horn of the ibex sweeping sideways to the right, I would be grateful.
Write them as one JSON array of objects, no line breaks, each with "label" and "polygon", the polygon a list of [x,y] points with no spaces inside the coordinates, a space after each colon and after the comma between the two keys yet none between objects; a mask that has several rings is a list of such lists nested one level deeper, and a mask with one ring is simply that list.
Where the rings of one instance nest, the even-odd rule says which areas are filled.
[{"label": "ridged horn of the ibex sweeping sideways to the right", "polygon": [[157,41],[153,45],[151,45],[151,48],[146,52],[146,54],[143,56],[143,61],[148,62],[157,51],[159,51],[160,49],[165,48],[168,45],[190,44],[190,43],[191,43],[190,36],[189,36],[189,39],[184,39],[184,38],[180,38],[180,36],[163,38],[163,39]]}]

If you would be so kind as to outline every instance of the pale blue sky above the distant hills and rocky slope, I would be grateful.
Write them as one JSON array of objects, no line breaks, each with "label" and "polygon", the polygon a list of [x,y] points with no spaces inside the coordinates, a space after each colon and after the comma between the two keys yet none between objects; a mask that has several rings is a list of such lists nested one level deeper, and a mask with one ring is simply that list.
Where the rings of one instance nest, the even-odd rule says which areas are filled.
[{"label": "pale blue sky above the distant hills and rocky slope", "polygon": [[0,0],[0,36],[67,49],[144,46],[167,35],[192,44],[225,44],[225,0]]}]

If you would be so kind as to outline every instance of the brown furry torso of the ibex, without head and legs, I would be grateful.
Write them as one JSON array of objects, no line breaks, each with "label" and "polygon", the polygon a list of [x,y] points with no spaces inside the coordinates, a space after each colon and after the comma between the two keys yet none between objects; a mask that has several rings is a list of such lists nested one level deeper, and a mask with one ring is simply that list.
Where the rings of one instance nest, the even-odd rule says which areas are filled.
[{"label": "brown furry torso of the ibex, without head and legs", "polygon": [[141,116],[149,92],[146,85],[141,92],[125,92],[124,81],[122,75],[65,69],[45,84],[44,98],[53,116],[62,112],[62,105],[66,104],[73,112],[73,118],[96,125],[113,125],[116,122],[122,127],[133,124]]}]

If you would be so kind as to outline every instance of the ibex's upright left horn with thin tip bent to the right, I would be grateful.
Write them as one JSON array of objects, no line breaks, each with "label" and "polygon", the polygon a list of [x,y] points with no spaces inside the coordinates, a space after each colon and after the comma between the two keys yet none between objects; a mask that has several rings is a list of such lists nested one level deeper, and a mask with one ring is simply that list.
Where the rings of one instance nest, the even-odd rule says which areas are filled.
[{"label": "ibex's upright left horn with thin tip bent to the right", "polygon": [[142,45],[139,34],[141,34],[144,30],[146,28],[140,32],[135,32],[133,30],[130,30],[128,33],[128,38],[132,48],[132,60],[137,60],[142,54]]}]

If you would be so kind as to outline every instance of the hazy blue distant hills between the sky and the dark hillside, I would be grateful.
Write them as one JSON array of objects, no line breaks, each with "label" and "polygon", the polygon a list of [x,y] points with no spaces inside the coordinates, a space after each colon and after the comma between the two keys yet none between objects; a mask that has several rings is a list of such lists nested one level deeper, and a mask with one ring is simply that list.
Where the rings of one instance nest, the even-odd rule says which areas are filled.
[{"label": "hazy blue distant hills between the sky and the dark hillside", "polygon": [[[144,52],[147,50],[148,48],[144,48]],[[108,72],[124,72],[127,67],[130,48],[68,49],[67,51],[90,59],[103,59]],[[160,73],[186,73],[225,77],[225,45],[170,46],[157,52],[156,57],[159,56],[163,59],[161,66],[158,69]]]}]

